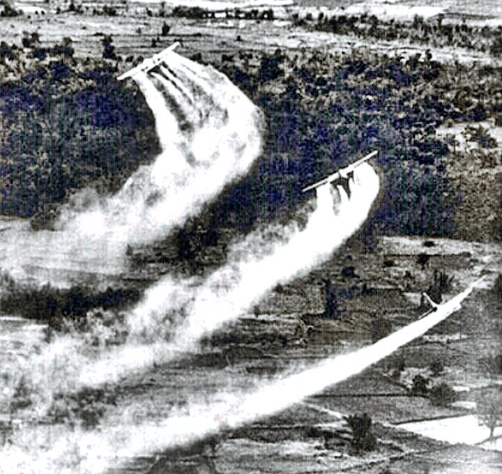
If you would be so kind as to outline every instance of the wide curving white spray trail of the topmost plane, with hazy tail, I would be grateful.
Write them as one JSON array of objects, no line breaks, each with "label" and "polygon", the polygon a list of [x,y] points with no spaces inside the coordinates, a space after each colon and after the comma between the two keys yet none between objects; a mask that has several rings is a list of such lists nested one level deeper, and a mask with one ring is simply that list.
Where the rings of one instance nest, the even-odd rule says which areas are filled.
[{"label": "wide curving white spray trail of the topmost plane, with hazy tail", "polygon": [[2,268],[13,276],[70,286],[72,272],[80,284],[86,274],[119,275],[128,244],[151,243],[183,224],[261,153],[261,112],[211,66],[173,53],[169,66],[135,80],[155,116],[162,153],[112,196],[75,194],[56,231],[34,232],[26,223],[3,232]]}]

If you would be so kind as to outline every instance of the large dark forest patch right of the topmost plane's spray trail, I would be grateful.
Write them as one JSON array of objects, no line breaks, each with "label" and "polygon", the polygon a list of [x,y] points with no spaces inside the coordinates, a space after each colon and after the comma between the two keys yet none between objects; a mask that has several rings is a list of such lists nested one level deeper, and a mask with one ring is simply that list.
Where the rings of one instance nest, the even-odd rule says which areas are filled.
[{"label": "large dark forest patch right of the topmost plane's spray trail", "polygon": [[[261,218],[286,213],[308,198],[303,186],[378,148],[383,193],[361,233],[365,242],[372,245],[376,227],[383,234],[455,235],[450,149],[435,130],[448,120],[478,120],[480,108],[491,113],[475,85],[479,69],[427,55],[420,61],[363,53],[291,59],[280,50],[259,65],[220,66],[264,109],[268,135],[264,158],[213,207],[215,224],[247,231]],[[471,99],[457,104],[451,76],[460,72],[471,77],[458,86],[468,87]],[[243,208],[244,200],[252,204]]]}]

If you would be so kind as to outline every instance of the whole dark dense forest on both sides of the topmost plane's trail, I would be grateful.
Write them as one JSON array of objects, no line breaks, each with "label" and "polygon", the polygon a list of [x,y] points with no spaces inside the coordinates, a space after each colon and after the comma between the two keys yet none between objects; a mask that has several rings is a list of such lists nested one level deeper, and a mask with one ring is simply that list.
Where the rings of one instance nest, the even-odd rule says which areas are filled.
[{"label": "whole dark dense forest on both sides of the topmost plane's trail", "polygon": [[[115,54],[82,63],[69,38],[44,54],[31,39],[31,70],[0,86],[0,212],[43,222],[72,190],[97,180],[116,190],[139,162],[153,159],[158,140],[142,94],[116,81]],[[20,54],[15,45],[0,47],[1,61]],[[247,231],[284,218],[307,199],[304,185],[377,148],[383,193],[366,234],[376,226],[387,234],[455,235],[461,197],[446,165],[462,157],[435,130],[499,114],[502,102],[487,100],[497,97],[499,82],[489,78],[500,79],[499,68],[445,65],[427,52],[280,50],[259,56],[259,66],[242,52],[215,66],[264,110],[268,133],[257,165],[209,206],[206,222]]]}]

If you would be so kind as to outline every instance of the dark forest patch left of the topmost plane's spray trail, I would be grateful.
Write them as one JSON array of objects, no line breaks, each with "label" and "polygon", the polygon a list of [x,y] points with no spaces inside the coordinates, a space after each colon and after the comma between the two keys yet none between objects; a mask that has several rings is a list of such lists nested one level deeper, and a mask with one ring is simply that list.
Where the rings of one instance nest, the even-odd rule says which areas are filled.
[{"label": "dark forest patch left of the topmost plane's spray trail", "polygon": [[[37,215],[43,225],[56,203],[91,181],[118,189],[159,146],[142,94],[119,84],[109,63],[77,63],[70,38],[47,49],[24,39],[31,70],[0,84],[0,213]],[[21,54],[2,43],[0,63]]]}]

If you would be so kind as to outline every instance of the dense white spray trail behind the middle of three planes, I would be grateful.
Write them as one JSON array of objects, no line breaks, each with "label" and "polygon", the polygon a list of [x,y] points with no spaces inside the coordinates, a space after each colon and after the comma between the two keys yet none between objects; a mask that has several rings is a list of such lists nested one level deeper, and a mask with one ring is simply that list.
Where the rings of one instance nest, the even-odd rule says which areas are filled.
[{"label": "dense white spray trail behind the middle of three planes", "polygon": [[[84,369],[80,382],[96,385],[116,381],[153,362],[166,362],[195,350],[201,337],[235,321],[278,283],[325,261],[363,224],[378,192],[377,173],[366,163],[360,165],[351,184],[351,199],[341,186],[317,188],[317,207],[305,229],[292,222],[287,227],[273,226],[273,231],[268,228],[250,234],[234,246],[229,263],[195,291],[189,292],[185,283],[176,283],[171,277],[161,280],[130,314],[129,344]],[[195,293],[192,300],[190,293]],[[172,312],[179,314],[181,309],[181,324],[173,328]],[[138,343],[145,335],[149,344]],[[168,344],[159,341],[167,336],[171,337]]]}]

